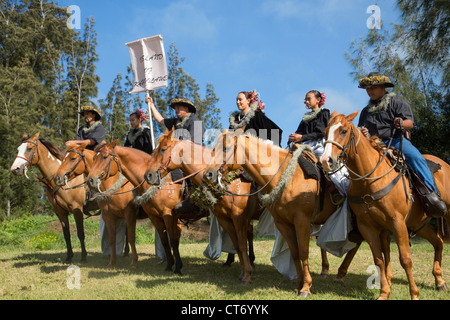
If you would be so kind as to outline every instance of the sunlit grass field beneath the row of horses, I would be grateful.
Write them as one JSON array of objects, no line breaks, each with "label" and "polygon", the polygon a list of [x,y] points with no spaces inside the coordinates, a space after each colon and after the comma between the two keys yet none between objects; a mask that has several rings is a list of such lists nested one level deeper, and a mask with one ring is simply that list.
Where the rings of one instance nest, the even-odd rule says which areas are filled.
[{"label": "sunlit grass field beneath the row of horses", "polygon": [[[192,241],[184,238],[180,251],[184,267],[183,275],[166,272],[165,264],[158,264],[154,255],[154,245],[145,244],[143,237],[137,247],[139,262],[136,269],[130,269],[130,257],[118,257],[115,269],[106,269],[109,257],[102,255],[98,231],[98,221],[91,221],[87,227],[88,260],[80,262],[79,242],[72,232],[75,257],[73,265],[78,266],[79,289],[68,288],[73,273],[68,273],[69,265],[64,263],[65,249],[54,222],[42,222],[47,240],[57,237],[54,247],[45,250],[29,245],[37,235],[26,233],[15,245],[3,245],[0,250],[0,299],[2,300],[300,300],[293,293],[296,281],[287,280],[273,267],[270,254],[273,239],[258,238],[255,241],[255,269],[253,281],[248,285],[240,284],[239,263],[223,267],[226,255],[215,261],[206,259],[203,250],[207,242]],[[42,231],[42,227],[40,227]],[[53,230],[53,231],[52,231]],[[60,233],[60,232],[59,232]],[[0,234],[1,236],[2,234]],[[3,235],[4,236],[4,235]],[[30,241],[30,239],[33,239]],[[28,241],[28,245],[26,245]],[[142,243],[144,242],[144,243]],[[150,242],[150,241],[148,241]],[[147,242],[147,243],[148,243]],[[1,243],[1,242],[0,242]],[[408,284],[405,272],[398,261],[396,245],[391,245],[394,281],[391,286],[393,300],[409,300]],[[413,239],[411,246],[413,273],[423,300],[450,300],[449,292],[437,292],[431,274],[433,250],[420,239]],[[366,282],[371,273],[367,272],[373,264],[370,249],[363,243],[357,253],[344,283],[333,281],[342,259],[329,255],[330,276],[321,277],[319,248],[311,241],[310,266],[313,276],[312,296],[309,300],[373,300],[378,290],[367,288]],[[443,254],[444,278],[450,280],[450,249],[448,245]],[[70,270],[70,269],[69,269]]]}]

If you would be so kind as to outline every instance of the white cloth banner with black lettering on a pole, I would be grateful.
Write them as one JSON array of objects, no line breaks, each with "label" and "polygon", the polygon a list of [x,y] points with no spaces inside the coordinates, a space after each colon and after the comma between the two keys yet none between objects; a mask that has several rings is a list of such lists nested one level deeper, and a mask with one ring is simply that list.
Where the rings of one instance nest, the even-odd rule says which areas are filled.
[{"label": "white cloth banner with black lettering on a pole", "polygon": [[167,87],[167,64],[162,36],[126,43],[130,50],[134,86],[130,93]]}]

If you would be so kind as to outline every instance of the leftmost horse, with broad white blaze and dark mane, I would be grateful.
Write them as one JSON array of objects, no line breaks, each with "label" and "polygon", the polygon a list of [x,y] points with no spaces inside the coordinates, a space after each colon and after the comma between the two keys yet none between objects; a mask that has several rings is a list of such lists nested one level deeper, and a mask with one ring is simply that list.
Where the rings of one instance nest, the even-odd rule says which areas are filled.
[{"label": "leftmost horse, with broad white blaze and dark mane", "polygon": [[[26,175],[26,171],[36,165],[43,175],[40,179],[47,187],[47,197],[58,217],[66,241],[66,262],[73,258],[72,243],[70,240],[69,212],[73,213],[77,225],[77,235],[81,245],[81,261],[86,261],[86,248],[84,244],[83,204],[85,202],[85,188],[63,190],[56,186],[53,179],[56,170],[63,159],[62,151],[50,141],[39,138],[39,132],[29,138],[24,135],[22,144],[18,148],[16,160],[11,171],[16,175]],[[83,177],[74,180],[74,184],[83,183]]]}]

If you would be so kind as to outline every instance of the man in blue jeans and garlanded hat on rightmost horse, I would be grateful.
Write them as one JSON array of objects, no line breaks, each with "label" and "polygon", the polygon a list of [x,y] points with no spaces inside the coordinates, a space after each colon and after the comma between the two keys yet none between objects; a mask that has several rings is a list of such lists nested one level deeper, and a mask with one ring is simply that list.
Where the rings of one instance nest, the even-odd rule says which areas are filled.
[{"label": "man in blue jeans and garlanded hat on rightmost horse", "polygon": [[394,128],[396,129],[391,145],[400,149],[402,143],[401,151],[408,165],[429,189],[421,197],[426,213],[430,216],[443,216],[447,213],[447,207],[438,194],[427,161],[409,140],[401,139],[401,129],[409,131],[414,126],[411,107],[393,92],[387,92],[388,87],[394,87],[394,84],[379,72],[371,72],[359,80],[359,88],[366,89],[370,101],[361,111],[358,127],[366,137],[376,135],[386,144],[394,134]]}]

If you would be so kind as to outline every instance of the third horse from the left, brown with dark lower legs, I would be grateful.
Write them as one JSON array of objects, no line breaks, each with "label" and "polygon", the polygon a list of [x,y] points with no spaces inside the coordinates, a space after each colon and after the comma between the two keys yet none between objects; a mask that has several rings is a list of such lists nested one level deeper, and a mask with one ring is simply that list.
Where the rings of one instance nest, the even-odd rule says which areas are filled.
[{"label": "third horse from the left, brown with dark lower legs", "polygon": [[[102,180],[121,172],[141,195],[138,197],[139,205],[142,205],[161,238],[167,258],[166,270],[171,271],[175,264],[174,273],[181,274],[183,264],[179,243],[182,227],[180,220],[172,215],[172,209],[181,200],[181,185],[173,184],[161,190],[150,187],[144,180],[144,173],[151,156],[137,149],[116,146],[116,143],[117,140],[96,148],[87,177],[89,187],[97,189]],[[170,182],[171,178],[167,181]]]}]

